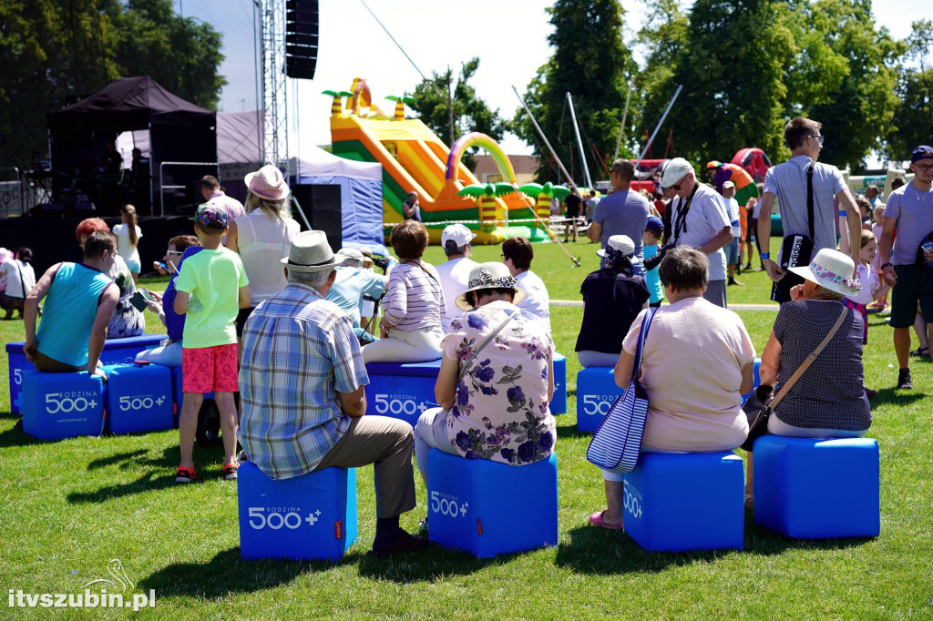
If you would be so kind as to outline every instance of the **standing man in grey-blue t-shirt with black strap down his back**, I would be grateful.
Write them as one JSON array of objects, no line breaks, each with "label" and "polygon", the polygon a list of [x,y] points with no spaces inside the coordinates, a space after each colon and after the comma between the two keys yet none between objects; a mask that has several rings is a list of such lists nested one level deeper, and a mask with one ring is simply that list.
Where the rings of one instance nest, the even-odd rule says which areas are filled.
[{"label": "standing man in grey-blue t-shirt with black strap down his back", "polygon": [[[833,198],[839,200],[839,214],[846,217],[848,248],[852,260],[858,265],[861,219],[856,201],[839,169],[816,161],[823,149],[821,127],[820,123],[803,117],[788,122],[784,128],[784,140],[790,147],[791,158],[768,169],[764,176],[764,196],[758,223],[759,254],[764,269],[774,282],[771,298],[781,304],[790,301],[790,289],[794,285],[803,283],[800,276],[786,268],[808,265],[820,250],[836,248]],[[772,260],[769,252],[774,200],[780,204],[785,235],[781,243],[780,265]]]}]

